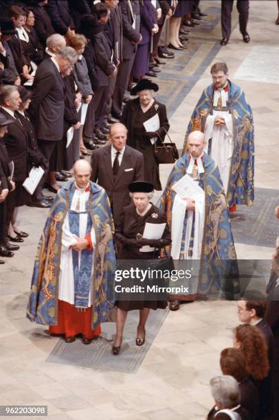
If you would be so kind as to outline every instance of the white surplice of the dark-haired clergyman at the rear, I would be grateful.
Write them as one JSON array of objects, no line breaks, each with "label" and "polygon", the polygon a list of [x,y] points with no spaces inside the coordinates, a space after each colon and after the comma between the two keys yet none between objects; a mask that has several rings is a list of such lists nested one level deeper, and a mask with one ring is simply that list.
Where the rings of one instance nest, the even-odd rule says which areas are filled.
[{"label": "white surplice of the dark-haired clergyman at the rear", "polygon": [[[221,96],[222,102],[227,101],[227,92],[214,92],[214,103],[218,96]],[[225,106],[225,104],[223,104]],[[224,126],[215,126],[214,119],[216,115],[225,119]],[[213,115],[208,115],[205,121],[205,152],[208,152],[208,141],[212,139],[210,157],[216,162],[219,167],[221,180],[227,195],[227,189],[230,181],[230,168],[232,164],[232,152],[234,150],[233,143],[233,126],[232,115],[229,111],[213,110]]]}]

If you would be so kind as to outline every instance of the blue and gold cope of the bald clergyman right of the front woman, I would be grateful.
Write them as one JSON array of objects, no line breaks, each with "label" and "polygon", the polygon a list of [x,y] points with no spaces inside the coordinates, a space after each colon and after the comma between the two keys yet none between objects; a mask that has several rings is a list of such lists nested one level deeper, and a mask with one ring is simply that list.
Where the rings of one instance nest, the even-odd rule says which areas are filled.
[{"label": "blue and gold cope of the bald clergyman right of the front woman", "polygon": [[[172,190],[172,185],[186,174],[189,163],[188,153],[175,163],[161,196],[160,208],[166,213],[170,227],[176,194]],[[227,200],[219,169],[206,153],[203,153],[203,167],[205,172],[199,174],[199,186],[205,191],[205,220],[203,237],[200,238],[203,245],[199,265],[198,294],[211,294],[223,290],[227,292],[226,297],[230,294],[230,298],[233,299],[234,294],[238,292],[238,278]],[[183,224],[181,255],[185,248],[186,227],[187,214]]]}]

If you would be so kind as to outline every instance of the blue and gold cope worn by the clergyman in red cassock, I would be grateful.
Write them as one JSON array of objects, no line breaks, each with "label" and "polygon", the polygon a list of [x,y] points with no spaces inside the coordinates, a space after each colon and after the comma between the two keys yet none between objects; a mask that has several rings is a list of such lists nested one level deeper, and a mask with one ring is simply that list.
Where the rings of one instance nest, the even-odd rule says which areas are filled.
[{"label": "blue and gold cope worn by the clergyman in red cassock", "polygon": [[[27,318],[42,325],[58,325],[58,290],[61,259],[63,222],[71,207],[75,182],[70,181],[58,191],[47,216],[36,253]],[[106,191],[89,181],[89,224],[96,234],[93,253],[94,265],[91,286],[93,291],[91,326],[113,317],[113,275],[115,272],[115,248],[113,244],[113,218]],[[75,285],[76,287],[76,285]],[[76,290],[75,290],[76,292]],[[75,302],[80,306],[82,303]]]}]

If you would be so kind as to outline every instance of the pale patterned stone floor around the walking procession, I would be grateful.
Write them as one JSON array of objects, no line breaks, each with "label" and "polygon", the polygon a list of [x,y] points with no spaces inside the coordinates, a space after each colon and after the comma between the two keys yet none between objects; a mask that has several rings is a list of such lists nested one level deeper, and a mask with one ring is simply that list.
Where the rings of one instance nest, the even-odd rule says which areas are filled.
[{"label": "pale patterned stone floor around the walking procession", "polygon": [[[191,32],[188,50],[169,60],[157,78],[158,97],[168,106],[170,132],[181,148],[192,109],[201,90],[210,84],[210,65],[226,60],[230,77],[241,84],[254,110],[256,187],[278,196],[272,192],[279,189],[276,1],[250,3],[252,42],[242,43],[234,10],[235,30],[221,49],[220,1],[201,1],[208,18]],[[262,51],[269,51],[269,60]],[[255,60],[252,68],[251,60]],[[247,78],[249,71],[251,78]],[[162,166],[165,183],[170,167]],[[221,349],[232,345],[232,328],[238,322],[235,303],[192,303],[168,314],[135,374],[48,363],[58,339],[49,338],[43,327],[25,318],[45,214],[41,209],[21,211],[22,229],[30,237],[16,257],[0,268],[0,404],[47,405],[48,418],[59,420],[204,419],[212,406],[208,382],[220,373]],[[247,244],[238,237],[238,257],[269,259],[272,244],[266,245]]]}]

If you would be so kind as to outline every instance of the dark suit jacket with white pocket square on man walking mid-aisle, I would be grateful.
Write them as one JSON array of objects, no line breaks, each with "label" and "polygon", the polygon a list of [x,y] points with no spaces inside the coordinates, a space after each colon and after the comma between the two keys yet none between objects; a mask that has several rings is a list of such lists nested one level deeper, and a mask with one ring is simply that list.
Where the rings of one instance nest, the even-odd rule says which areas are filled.
[{"label": "dark suit jacket with white pocket square on man walking mid-aisle", "polygon": [[144,179],[144,156],[125,146],[118,175],[113,180],[111,165],[111,145],[94,150],[91,156],[91,180],[107,191],[113,209],[115,222],[119,220],[123,207],[130,204],[128,185]]}]

